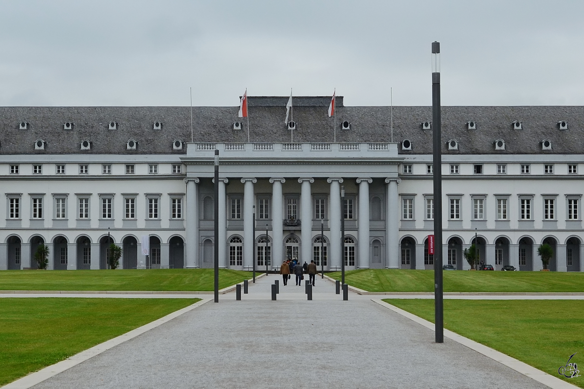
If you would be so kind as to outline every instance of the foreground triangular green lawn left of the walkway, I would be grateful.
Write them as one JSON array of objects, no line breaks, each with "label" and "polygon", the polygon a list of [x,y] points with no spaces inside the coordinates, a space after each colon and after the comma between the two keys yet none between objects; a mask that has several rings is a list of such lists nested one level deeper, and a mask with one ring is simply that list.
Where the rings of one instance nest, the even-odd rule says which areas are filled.
[{"label": "foreground triangular green lawn left of the walkway", "polygon": [[200,299],[0,299],[0,386]]}]

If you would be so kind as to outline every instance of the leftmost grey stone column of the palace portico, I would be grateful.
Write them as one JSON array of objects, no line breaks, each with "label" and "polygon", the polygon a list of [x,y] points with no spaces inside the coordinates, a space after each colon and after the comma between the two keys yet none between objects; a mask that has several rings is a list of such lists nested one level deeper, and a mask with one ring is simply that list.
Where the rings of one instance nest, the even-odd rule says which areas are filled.
[{"label": "leftmost grey stone column of the palace portico", "polygon": [[[185,268],[200,267],[199,264],[199,178],[189,177],[186,184],[186,231],[185,231]],[[161,258],[162,259],[162,258]]]}]

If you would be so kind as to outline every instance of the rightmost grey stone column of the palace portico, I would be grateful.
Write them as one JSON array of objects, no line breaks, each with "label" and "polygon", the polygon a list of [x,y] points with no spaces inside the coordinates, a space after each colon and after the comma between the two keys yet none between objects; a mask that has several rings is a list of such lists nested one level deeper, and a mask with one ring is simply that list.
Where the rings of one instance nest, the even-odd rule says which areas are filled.
[{"label": "rightmost grey stone column of the palace portico", "polygon": [[401,178],[385,178],[387,184],[387,212],[385,212],[385,229],[387,230],[387,263],[385,267],[399,269],[399,195],[398,184]]}]

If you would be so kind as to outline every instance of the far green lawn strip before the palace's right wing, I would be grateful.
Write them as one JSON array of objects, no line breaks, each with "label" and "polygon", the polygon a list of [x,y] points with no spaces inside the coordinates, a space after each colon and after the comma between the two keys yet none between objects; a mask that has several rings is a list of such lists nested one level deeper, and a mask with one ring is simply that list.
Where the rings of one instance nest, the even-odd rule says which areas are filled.
[{"label": "far green lawn strip before the palace's right wing", "polygon": [[[340,279],[340,272],[329,273]],[[444,292],[584,292],[580,272],[444,271]],[[366,269],[345,282],[370,292],[433,292],[433,270]]]}]

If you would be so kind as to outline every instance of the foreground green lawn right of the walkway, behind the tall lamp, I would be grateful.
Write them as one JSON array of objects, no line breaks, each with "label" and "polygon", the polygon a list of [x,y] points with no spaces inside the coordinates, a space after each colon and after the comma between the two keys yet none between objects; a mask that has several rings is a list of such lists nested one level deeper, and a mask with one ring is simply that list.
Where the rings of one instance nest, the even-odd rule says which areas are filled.
[{"label": "foreground green lawn right of the walkway, behind the tall lamp", "polygon": [[[434,323],[432,299],[384,302]],[[584,300],[444,300],[444,328],[555,377],[575,352],[584,366]],[[564,380],[584,387],[580,375]]]}]

